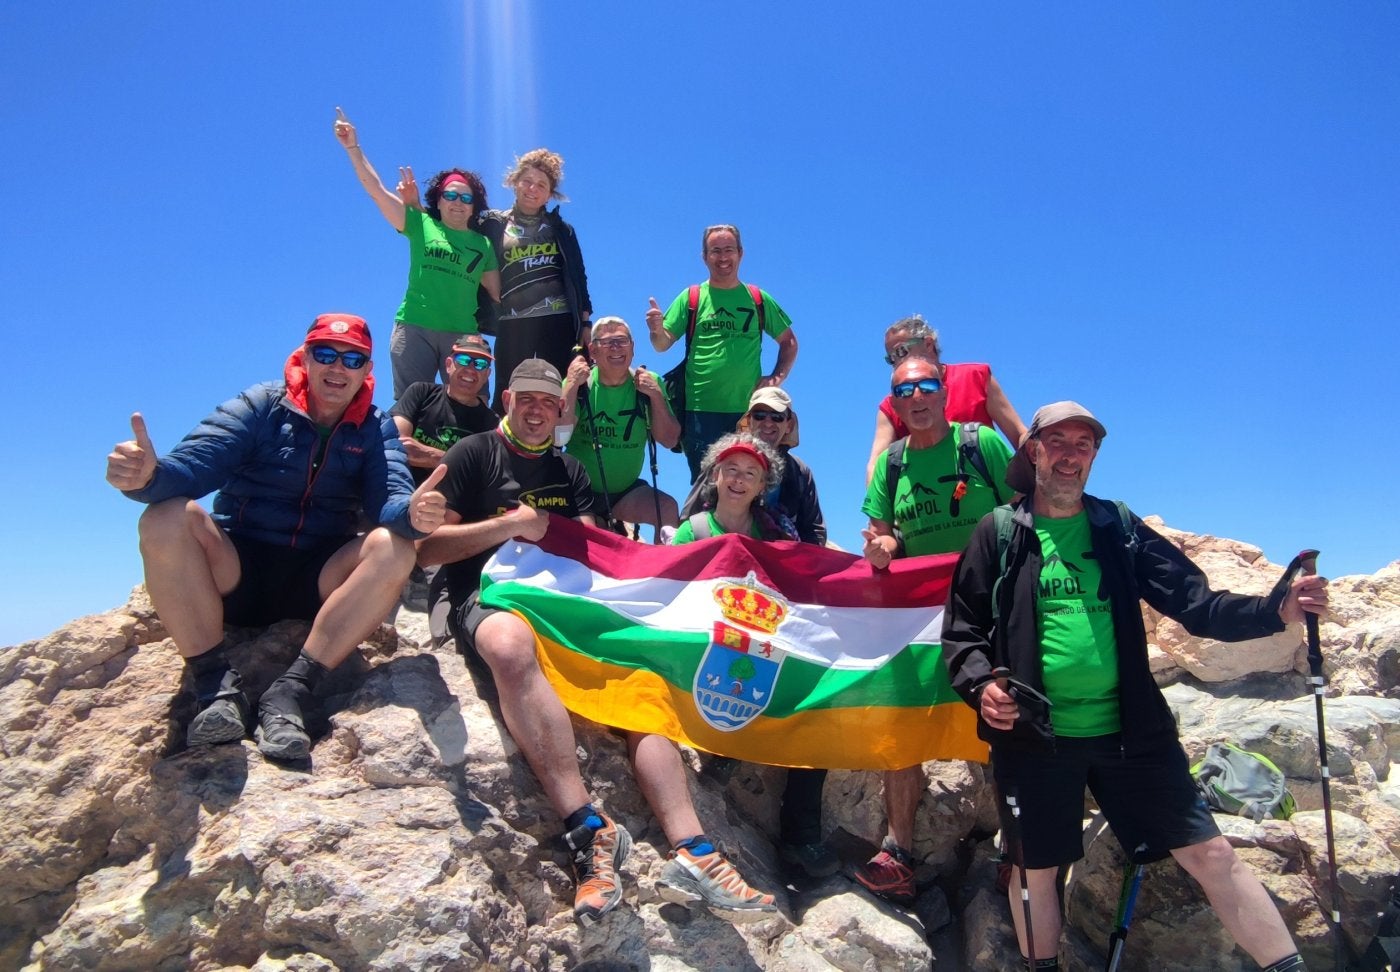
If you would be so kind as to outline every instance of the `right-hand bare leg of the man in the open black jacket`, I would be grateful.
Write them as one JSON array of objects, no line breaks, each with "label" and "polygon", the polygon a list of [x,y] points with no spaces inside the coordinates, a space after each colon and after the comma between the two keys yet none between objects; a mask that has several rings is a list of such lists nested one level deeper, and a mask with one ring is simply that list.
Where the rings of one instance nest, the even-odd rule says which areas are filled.
[{"label": "right-hand bare leg of the man in the open black jacket", "polygon": [[1172,856],[1200,882],[1221,924],[1256,962],[1271,965],[1298,951],[1268,891],[1229,840],[1211,838]]}]

